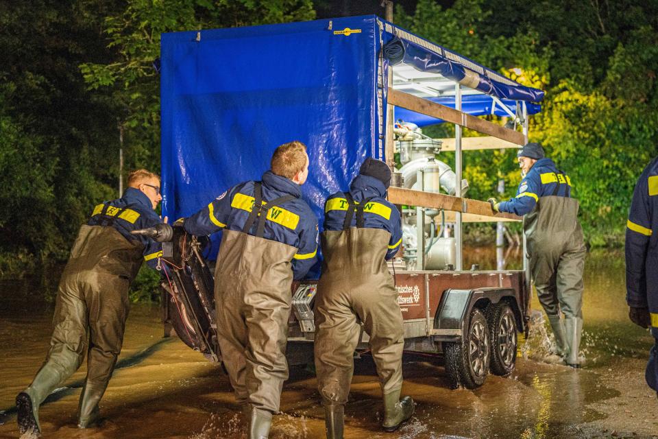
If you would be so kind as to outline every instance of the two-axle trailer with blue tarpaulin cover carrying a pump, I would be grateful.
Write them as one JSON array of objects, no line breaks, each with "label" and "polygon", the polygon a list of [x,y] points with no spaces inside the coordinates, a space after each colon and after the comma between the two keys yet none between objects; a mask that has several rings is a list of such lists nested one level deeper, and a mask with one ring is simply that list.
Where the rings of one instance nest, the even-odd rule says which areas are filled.
[{"label": "two-axle trailer with blue tarpaulin cover carrying a pump", "polygon": [[[441,355],[453,388],[513,371],[528,323],[527,264],[465,270],[462,224],[520,218],[464,198],[462,154],[526,143],[544,92],[377,16],[162,34],[160,73],[163,215],[189,216],[228,187],[258,180],[274,147],[296,139],[308,147],[302,190],[321,225],[324,200],[348,187],[364,158],[386,161],[404,229],[389,267],[405,349]],[[422,126],[432,123],[453,123],[454,139],[426,137]],[[486,137],[464,138],[463,128]],[[442,154],[455,154],[455,169]],[[162,258],[172,268],[165,332],[211,361],[222,361],[212,292],[222,281],[212,277],[219,239],[178,229]],[[318,276],[319,265],[291,291],[291,365],[313,363]],[[356,356],[367,342],[362,331]]]}]

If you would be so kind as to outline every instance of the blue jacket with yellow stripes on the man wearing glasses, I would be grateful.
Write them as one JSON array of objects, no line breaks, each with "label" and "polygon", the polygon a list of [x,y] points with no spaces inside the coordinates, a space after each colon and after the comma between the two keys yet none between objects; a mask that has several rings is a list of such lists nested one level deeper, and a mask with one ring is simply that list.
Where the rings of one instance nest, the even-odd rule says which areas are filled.
[{"label": "blue jacket with yellow stripes on the man wearing glasses", "polygon": [[144,246],[144,260],[149,268],[156,270],[158,257],[162,256],[162,244],[143,235],[130,235],[132,230],[153,227],[162,219],[151,207],[151,200],[145,193],[134,187],[123,192],[123,197],[97,204],[88,226],[111,226],[117,229],[125,239],[140,241]]}]

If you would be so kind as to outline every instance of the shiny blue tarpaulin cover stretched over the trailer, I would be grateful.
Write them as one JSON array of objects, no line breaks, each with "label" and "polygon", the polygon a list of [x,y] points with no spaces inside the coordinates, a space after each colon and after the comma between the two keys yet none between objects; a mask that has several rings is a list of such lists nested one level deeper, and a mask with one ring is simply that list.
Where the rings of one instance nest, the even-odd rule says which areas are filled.
[{"label": "shiny blue tarpaulin cover stretched over the trailer", "polygon": [[[163,215],[173,222],[260,179],[273,150],[298,140],[310,158],[304,199],[321,224],[327,196],[348,188],[363,159],[383,158],[380,48],[393,31],[409,36],[376,16],[162,34]],[[441,58],[409,44],[415,63],[423,51]],[[541,99],[511,81],[505,87],[515,99]]]}]

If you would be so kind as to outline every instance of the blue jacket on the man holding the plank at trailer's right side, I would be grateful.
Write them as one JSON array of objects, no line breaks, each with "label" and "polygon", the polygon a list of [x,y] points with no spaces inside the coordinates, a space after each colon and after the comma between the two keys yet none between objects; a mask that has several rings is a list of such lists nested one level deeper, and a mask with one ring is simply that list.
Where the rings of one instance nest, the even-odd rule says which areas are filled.
[{"label": "blue jacket on the man holding the plank at trailer's right side", "polygon": [[531,213],[539,198],[550,195],[571,197],[571,179],[550,158],[540,158],[521,180],[516,197],[498,204],[501,212],[519,216]]}]

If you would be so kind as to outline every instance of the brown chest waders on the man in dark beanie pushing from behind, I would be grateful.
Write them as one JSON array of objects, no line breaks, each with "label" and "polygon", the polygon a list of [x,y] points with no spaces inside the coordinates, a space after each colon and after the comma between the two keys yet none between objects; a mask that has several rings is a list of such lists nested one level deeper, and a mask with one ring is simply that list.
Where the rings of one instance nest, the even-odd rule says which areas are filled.
[{"label": "brown chest waders on the man in dark beanie pushing from behind", "polygon": [[[328,438],[343,437],[343,411],[354,372],[354,350],[361,327],[369,335],[385,402],[383,427],[397,429],[413,413],[413,401],[400,401],[404,331],[398,292],[385,256],[391,234],[364,228],[369,200],[356,204],[350,193],[343,230],[325,230],[322,274],[315,298],[315,368],[325,407]],[[356,227],[350,227],[356,213]]]}]

